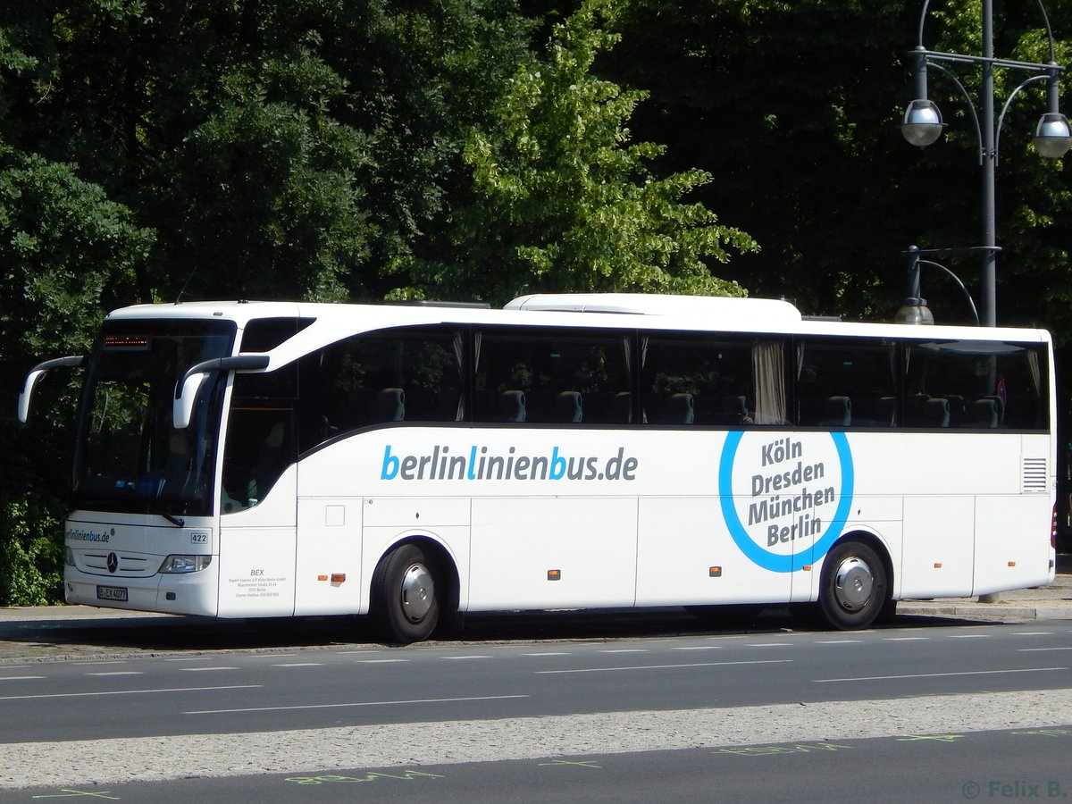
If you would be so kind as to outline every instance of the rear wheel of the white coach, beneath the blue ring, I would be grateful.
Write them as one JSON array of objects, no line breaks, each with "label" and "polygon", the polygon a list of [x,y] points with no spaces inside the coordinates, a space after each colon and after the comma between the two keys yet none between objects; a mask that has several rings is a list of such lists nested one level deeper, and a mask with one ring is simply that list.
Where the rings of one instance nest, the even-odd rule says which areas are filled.
[{"label": "rear wheel of the white coach, beneath the blue ring", "polygon": [[866,628],[889,597],[885,565],[862,541],[843,541],[827,554],[819,586],[819,608],[839,630]]}]

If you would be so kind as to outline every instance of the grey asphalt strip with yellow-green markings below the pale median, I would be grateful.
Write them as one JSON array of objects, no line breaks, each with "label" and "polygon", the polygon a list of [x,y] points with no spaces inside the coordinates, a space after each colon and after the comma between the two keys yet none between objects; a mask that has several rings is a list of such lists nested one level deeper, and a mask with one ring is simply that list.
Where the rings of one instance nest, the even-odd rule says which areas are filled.
[{"label": "grey asphalt strip with yellow-green markings below the pale median", "polygon": [[1072,728],[0,790],[0,802],[652,804],[1064,801]]}]

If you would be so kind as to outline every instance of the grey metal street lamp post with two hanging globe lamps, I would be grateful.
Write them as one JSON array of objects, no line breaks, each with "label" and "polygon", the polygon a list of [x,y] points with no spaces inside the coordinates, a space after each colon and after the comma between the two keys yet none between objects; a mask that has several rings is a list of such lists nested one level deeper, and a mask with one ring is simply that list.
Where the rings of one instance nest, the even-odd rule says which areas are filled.
[{"label": "grey metal street lamp post with two hanging globe lamps", "polygon": [[[923,24],[930,0],[924,0],[920,14],[919,44],[911,51],[912,83],[915,100],[905,109],[900,131],[911,145],[925,148],[937,142],[946,124],[942,122],[938,106],[927,100],[927,69],[934,69],[950,78],[961,90],[971,111],[976,128],[976,138],[979,144],[979,164],[982,167],[982,244],[976,247],[982,254],[982,321],[984,326],[997,325],[997,235],[996,211],[994,199],[995,168],[998,161],[998,143],[1001,136],[1001,123],[1013,99],[1019,92],[1039,81],[1047,85],[1047,110],[1039,120],[1034,131],[1034,149],[1047,159],[1058,159],[1072,146],[1072,129],[1068,118],[1058,108],[1060,85],[1059,75],[1063,68],[1059,66],[1054,56],[1054,35],[1049,28],[1049,18],[1041,0],[1038,0],[1039,11],[1045,24],[1046,36],[1049,40],[1049,61],[1045,64],[1030,61],[1012,61],[994,58],[994,3],[993,0],[982,0],[983,12],[983,47],[982,56],[964,56],[961,54],[928,50],[923,46]],[[955,74],[942,66],[941,62],[974,64],[982,70],[982,90],[980,95],[981,111],[976,109],[971,95]],[[1006,99],[1001,115],[995,122],[994,117],[994,70],[995,68],[1019,70],[1033,73],[1019,84]]]}]

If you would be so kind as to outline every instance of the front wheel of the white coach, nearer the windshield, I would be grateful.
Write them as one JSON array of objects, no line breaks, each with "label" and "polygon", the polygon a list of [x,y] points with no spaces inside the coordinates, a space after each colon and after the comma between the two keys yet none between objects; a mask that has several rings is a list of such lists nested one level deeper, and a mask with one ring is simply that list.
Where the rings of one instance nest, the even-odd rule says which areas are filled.
[{"label": "front wheel of the white coach, nearer the windshield", "polygon": [[408,644],[428,639],[440,620],[436,566],[417,545],[402,545],[376,567],[372,583],[372,617],[388,642]]}]

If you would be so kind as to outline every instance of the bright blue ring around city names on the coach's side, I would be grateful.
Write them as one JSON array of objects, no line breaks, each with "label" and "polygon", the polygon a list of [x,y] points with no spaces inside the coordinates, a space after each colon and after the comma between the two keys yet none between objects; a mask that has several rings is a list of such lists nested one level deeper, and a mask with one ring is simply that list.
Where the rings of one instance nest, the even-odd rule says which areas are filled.
[{"label": "bright blue ring around city names on the coach's side", "polygon": [[736,506],[733,505],[733,461],[743,436],[743,430],[734,430],[726,434],[726,444],[723,445],[723,456],[718,462],[718,501],[723,508],[723,519],[726,520],[726,526],[729,528],[733,541],[753,564],[774,572],[795,572],[825,555],[834,540],[840,535],[845,523],[848,522],[849,511],[852,508],[854,480],[849,440],[845,433],[830,433],[830,437],[834,441],[834,447],[837,449],[837,459],[842,464],[842,493],[838,497],[837,509],[834,511],[834,518],[814,545],[799,553],[783,554],[772,553],[753,541],[738,516]]}]

